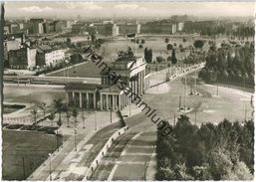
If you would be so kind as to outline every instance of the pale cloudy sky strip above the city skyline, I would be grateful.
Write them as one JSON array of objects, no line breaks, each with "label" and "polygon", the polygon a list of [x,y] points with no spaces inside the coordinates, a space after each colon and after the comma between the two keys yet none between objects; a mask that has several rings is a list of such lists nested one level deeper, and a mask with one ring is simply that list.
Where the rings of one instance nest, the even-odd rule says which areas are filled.
[{"label": "pale cloudy sky strip above the city skyline", "polygon": [[7,2],[6,17],[254,16],[254,2]]}]

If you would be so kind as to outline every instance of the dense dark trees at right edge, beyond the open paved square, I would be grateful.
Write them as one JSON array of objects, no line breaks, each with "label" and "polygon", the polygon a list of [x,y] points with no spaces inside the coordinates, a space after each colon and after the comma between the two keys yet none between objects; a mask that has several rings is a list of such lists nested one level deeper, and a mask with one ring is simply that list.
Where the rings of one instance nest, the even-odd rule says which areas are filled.
[{"label": "dense dark trees at right edge, beyond the open paved square", "polygon": [[244,46],[222,44],[219,49],[212,45],[206,65],[199,73],[207,83],[231,82],[251,87],[254,86],[254,75],[253,42],[246,42]]}]

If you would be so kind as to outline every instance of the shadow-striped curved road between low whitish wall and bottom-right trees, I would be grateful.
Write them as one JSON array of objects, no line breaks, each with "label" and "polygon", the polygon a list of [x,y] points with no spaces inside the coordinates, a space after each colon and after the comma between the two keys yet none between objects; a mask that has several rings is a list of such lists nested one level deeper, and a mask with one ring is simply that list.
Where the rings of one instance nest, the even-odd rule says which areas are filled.
[{"label": "shadow-striped curved road between low whitish wall and bottom-right trees", "polygon": [[[155,142],[155,127],[149,118],[147,118],[143,113],[139,113],[135,116],[132,116],[132,118],[128,118],[127,123],[129,130],[117,141],[115,141],[109,152],[103,158],[100,166],[92,175],[91,180],[142,179],[141,173],[139,171],[143,170],[143,161],[145,159],[149,161],[150,159],[152,146]],[[152,136],[152,138],[150,136]],[[134,161],[137,162],[138,160],[140,162],[134,163]],[[136,165],[136,167],[132,168],[130,165]],[[125,171],[130,171],[130,173],[133,175],[136,174],[136,176],[134,177],[133,175],[123,175],[124,178],[122,178],[122,176],[117,176],[117,174],[121,173],[116,173],[116,170],[119,171],[122,168],[126,168]],[[111,173],[113,177],[109,178]]]}]

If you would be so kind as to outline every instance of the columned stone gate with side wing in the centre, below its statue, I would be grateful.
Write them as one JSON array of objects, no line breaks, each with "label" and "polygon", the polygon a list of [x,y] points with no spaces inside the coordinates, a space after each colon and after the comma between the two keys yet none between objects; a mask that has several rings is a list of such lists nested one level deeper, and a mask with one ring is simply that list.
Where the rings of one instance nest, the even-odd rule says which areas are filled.
[{"label": "columned stone gate with side wing in the centre, below its statue", "polygon": [[143,58],[119,59],[110,67],[119,78],[116,83],[110,72],[102,73],[101,85],[70,83],[65,88],[67,103],[88,109],[122,110],[143,93],[145,65]]}]

